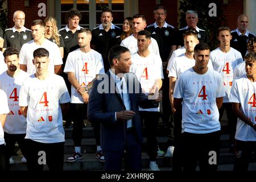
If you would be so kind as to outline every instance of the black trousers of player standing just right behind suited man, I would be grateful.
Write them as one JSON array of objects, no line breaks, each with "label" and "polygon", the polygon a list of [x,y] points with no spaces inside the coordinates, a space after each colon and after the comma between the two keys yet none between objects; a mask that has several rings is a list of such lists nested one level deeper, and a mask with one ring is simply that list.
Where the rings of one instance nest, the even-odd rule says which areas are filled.
[{"label": "black trousers of player standing just right behind suited man", "polygon": [[139,115],[141,117],[141,122],[143,123],[144,121],[144,126],[146,130],[148,156],[150,158],[150,161],[156,161],[156,156],[158,155],[157,133],[159,112],[139,111]]}]

